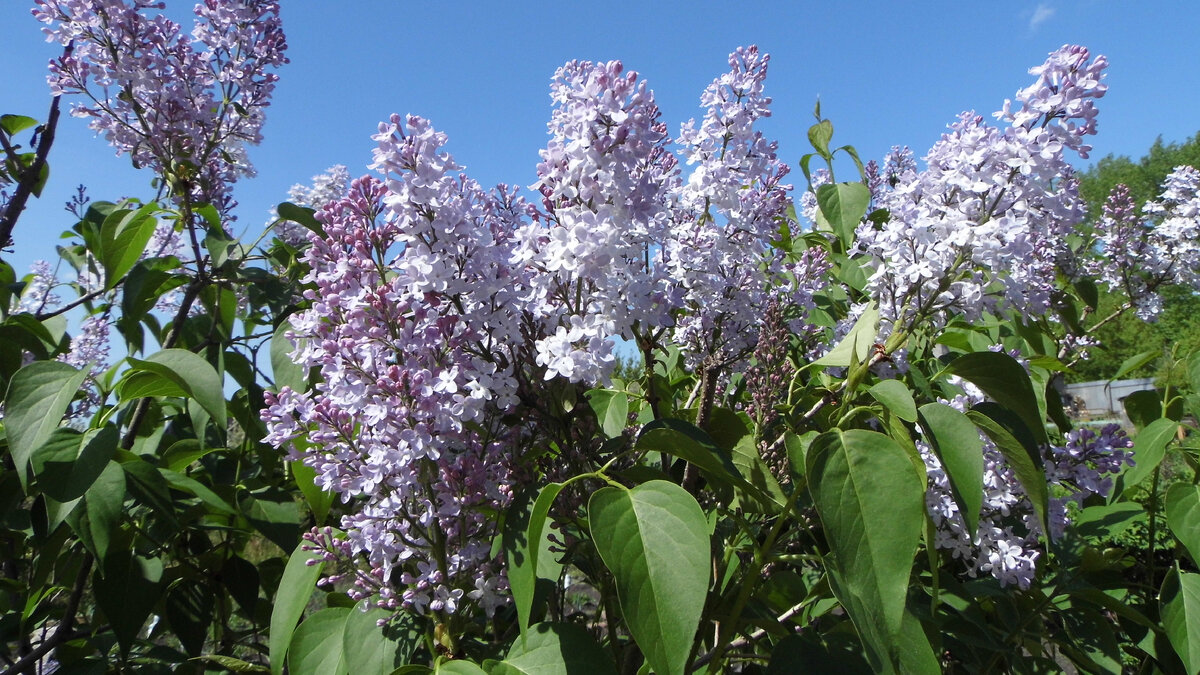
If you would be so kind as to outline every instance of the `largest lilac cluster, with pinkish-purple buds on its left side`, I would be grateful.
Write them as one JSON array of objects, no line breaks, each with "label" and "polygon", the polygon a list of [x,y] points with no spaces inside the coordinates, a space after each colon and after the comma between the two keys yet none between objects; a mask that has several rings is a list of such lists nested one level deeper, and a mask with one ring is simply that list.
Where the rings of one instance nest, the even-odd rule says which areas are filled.
[{"label": "largest lilac cluster, with pinkish-purple buds on its left side", "polygon": [[522,204],[456,175],[421,118],[392,117],[376,141],[385,180],[356,179],[325,204],[326,237],[305,253],[312,305],[292,339],[320,384],[268,398],[268,441],[298,440],[320,485],[359,502],[342,521],[347,554],[370,566],[356,593],[452,613],[476,579],[504,587],[484,507],[511,497],[520,437],[500,417],[516,402],[506,366],[528,286],[509,264]]}]

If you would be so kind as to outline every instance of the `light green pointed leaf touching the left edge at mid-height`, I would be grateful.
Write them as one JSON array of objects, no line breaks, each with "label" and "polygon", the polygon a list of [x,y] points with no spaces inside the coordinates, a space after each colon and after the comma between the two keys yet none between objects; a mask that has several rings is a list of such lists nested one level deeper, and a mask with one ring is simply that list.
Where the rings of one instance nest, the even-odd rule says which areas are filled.
[{"label": "light green pointed leaf touching the left edge at mid-height", "polygon": [[88,371],[60,362],[34,362],[8,382],[4,426],[20,486],[29,486],[29,459],[62,423]]}]

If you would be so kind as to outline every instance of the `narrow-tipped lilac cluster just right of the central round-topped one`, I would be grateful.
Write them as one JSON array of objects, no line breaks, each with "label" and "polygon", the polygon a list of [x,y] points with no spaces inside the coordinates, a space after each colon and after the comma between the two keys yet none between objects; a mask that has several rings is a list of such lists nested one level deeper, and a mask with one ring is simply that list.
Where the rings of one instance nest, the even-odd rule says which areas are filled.
[{"label": "narrow-tipped lilac cluster just right of the central round-topped one", "polygon": [[674,197],[662,255],[682,295],[674,342],[694,364],[746,357],[770,298],[806,309],[829,270],[823,249],[790,261],[772,245],[781,227],[794,223],[785,217],[792,186],[782,179],[790,169],[776,157],[776,143],[754,129],[770,115],[763,95],[769,60],[755,47],[731,54],[730,72],[701,96],[704,120],[698,129],[685,124],[678,139],[696,168]]}]

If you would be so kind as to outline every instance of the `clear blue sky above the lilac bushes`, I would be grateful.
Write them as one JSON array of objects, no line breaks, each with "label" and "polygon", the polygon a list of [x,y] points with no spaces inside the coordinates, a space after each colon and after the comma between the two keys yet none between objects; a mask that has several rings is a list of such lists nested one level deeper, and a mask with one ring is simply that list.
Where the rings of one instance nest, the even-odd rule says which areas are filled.
[{"label": "clear blue sky above the lilac bushes", "polygon": [[[920,156],[956,113],[998,109],[1031,82],[1030,66],[1067,42],[1111,61],[1092,161],[1136,157],[1159,135],[1182,141],[1200,131],[1200,4],[1190,0],[283,5],[292,62],[280,71],[265,141],[251,149],[259,175],[235,190],[236,229],[256,234],[292,184],[335,163],[365,173],[370,136],[392,112],[432,119],[481,184],[528,186],[546,142],[547,84],[570,59],[619,59],[640,72],[674,133],[702,113],[700,92],[728,52],[757,43],[772,54],[775,101],[763,130],[793,165],[818,95],[834,141],[856,145],[864,161],[893,144]],[[44,66],[56,49],[29,6],[0,2],[0,113],[44,119]],[[188,25],[191,6],[168,0]],[[53,256],[76,185],[94,199],[152,195],[151,175],[115,157],[79,119],[64,118],[50,165],[43,198],[14,233],[18,274]]]}]

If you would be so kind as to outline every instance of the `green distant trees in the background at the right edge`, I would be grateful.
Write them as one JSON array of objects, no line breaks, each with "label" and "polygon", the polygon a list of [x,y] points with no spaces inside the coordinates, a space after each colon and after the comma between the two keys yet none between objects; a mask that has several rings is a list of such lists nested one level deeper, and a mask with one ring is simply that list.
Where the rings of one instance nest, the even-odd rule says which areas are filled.
[{"label": "green distant trees in the background at the right edge", "polygon": [[[1145,204],[1158,197],[1163,180],[1175,167],[1182,165],[1200,167],[1200,132],[1183,143],[1163,143],[1159,137],[1138,161],[1116,155],[1103,157],[1079,174],[1079,191],[1093,216],[1100,214],[1104,199],[1117,184],[1129,187],[1134,203]],[[1118,301],[1115,294],[1102,288],[1100,306],[1096,316],[1108,316],[1117,307]],[[1133,312],[1127,312],[1097,330],[1096,336],[1103,346],[1092,350],[1090,360],[1075,365],[1074,372],[1068,375],[1069,381],[1111,377],[1126,359],[1156,347],[1164,354],[1174,348],[1180,357],[1200,351],[1200,297],[1180,287],[1164,288],[1163,312],[1156,323],[1146,324]],[[1129,375],[1153,376],[1160,381],[1182,377],[1180,374],[1168,374],[1162,364],[1150,364]]]}]

